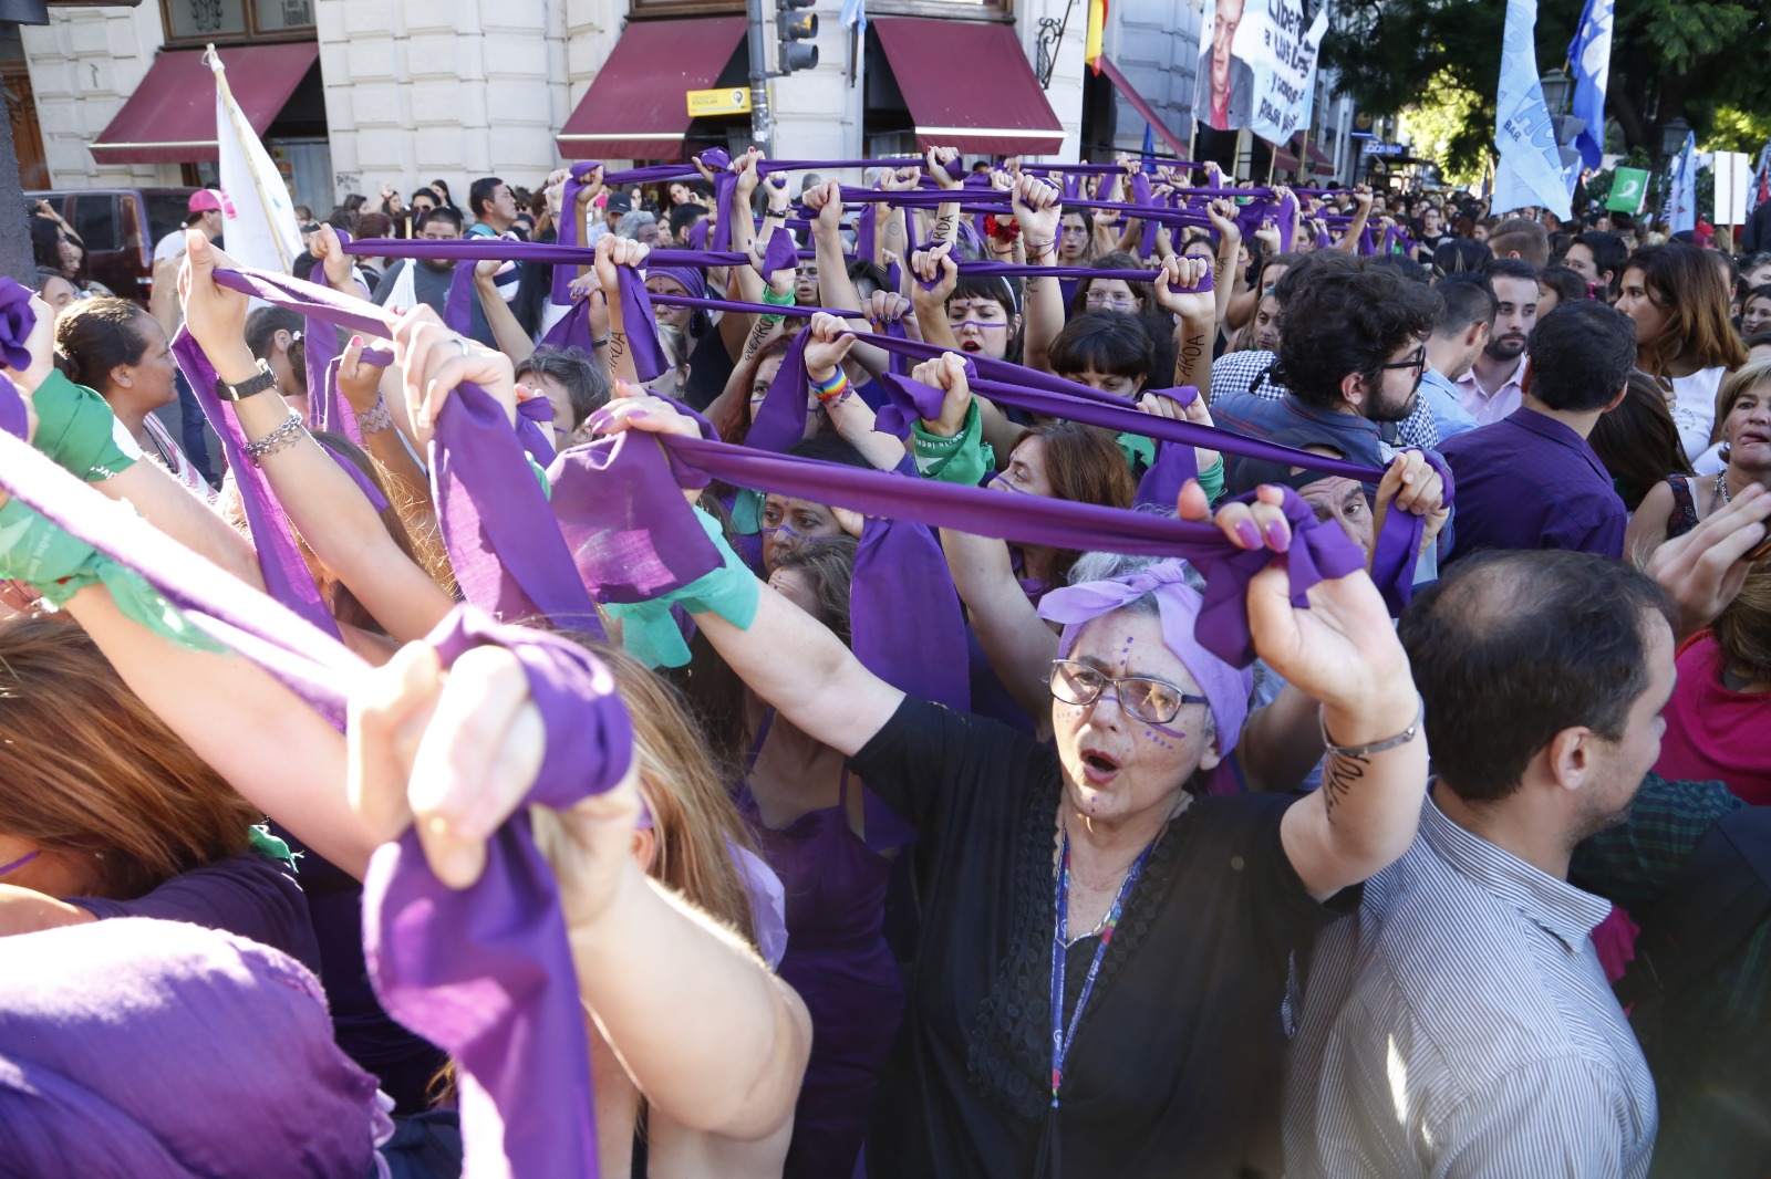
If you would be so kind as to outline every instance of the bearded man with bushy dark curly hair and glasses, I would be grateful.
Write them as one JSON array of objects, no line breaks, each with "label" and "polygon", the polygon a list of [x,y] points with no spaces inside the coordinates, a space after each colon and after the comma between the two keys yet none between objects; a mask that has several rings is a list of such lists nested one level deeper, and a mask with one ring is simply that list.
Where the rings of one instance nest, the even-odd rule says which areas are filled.
[{"label": "bearded man with bushy dark curly hair and glasses", "polygon": [[1381,467],[1396,453],[1383,425],[1415,409],[1426,338],[1440,306],[1431,287],[1392,266],[1323,267],[1286,301],[1279,336],[1284,397],[1229,393],[1211,416],[1256,437],[1321,427],[1342,441],[1350,460]]}]

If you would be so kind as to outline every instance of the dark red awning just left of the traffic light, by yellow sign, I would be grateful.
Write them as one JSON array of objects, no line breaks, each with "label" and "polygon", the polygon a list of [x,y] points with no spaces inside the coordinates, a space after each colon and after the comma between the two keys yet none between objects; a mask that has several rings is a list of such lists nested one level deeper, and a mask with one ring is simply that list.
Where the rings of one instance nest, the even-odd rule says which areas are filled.
[{"label": "dark red awning just left of the traffic light, by yellow sign", "polygon": [[682,159],[689,90],[710,90],[742,41],[742,16],[634,21],[565,120],[560,154]]}]

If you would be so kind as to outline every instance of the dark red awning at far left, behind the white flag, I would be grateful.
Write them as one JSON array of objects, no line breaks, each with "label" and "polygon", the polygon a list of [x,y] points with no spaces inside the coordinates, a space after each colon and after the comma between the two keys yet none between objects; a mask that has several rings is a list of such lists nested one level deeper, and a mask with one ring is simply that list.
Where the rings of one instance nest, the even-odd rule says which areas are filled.
[{"label": "dark red awning at far left, behind the white flag", "polygon": [[[287,41],[218,53],[234,101],[262,136],[319,60],[321,46]],[[103,165],[216,159],[216,83],[204,51],[161,51],[90,150]]]}]

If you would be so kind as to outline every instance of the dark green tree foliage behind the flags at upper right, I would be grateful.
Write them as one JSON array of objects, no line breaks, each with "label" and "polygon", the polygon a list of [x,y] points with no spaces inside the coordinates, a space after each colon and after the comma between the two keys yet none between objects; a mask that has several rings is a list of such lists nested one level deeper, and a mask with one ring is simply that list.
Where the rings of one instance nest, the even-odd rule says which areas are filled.
[{"label": "dark green tree foliage behind the flags at upper right", "polygon": [[[1539,0],[1539,71],[1566,64],[1582,9],[1583,0]],[[1419,108],[1435,127],[1427,138],[1440,165],[1470,173],[1493,145],[1505,18],[1504,0],[1335,0],[1323,62],[1339,73],[1339,90],[1373,113]],[[1619,0],[1606,113],[1626,149],[1656,158],[1679,117],[1705,145],[1757,150],[1739,140],[1771,112],[1766,60],[1764,0]],[[1454,119],[1461,124],[1438,135]]]}]

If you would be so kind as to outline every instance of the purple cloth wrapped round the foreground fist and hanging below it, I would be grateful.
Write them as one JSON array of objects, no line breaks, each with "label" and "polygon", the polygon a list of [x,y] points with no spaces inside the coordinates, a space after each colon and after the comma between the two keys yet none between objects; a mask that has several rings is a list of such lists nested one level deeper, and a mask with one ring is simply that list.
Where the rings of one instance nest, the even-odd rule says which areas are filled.
[{"label": "purple cloth wrapped round the foreground fist and hanging below it", "polygon": [[[632,722],[615,676],[584,648],[469,609],[429,643],[445,667],[487,643],[522,662],[547,728],[528,804],[565,811],[627,774]],[[528,807],[487,841],[485,871],[462,890],[432,875],[416,830],[377,848],[363,878],[363,942],[381,1004],[460,1066],[464,1174],[597,1175],[577,970]]]}]

